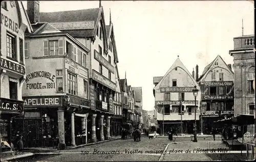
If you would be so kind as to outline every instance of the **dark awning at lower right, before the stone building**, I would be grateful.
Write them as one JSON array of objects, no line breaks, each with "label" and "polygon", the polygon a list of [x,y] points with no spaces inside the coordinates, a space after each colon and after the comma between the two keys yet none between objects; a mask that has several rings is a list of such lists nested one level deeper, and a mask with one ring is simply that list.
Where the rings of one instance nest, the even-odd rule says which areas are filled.
[{"label": "dark awning at lower right, before the stone building", "polygon": [[228,125],[251,125],[255,124],[254,115],[250,114],[240,114],[237,117],[232,117],[224,120],[219,120],[214,123],[223,123]]}]

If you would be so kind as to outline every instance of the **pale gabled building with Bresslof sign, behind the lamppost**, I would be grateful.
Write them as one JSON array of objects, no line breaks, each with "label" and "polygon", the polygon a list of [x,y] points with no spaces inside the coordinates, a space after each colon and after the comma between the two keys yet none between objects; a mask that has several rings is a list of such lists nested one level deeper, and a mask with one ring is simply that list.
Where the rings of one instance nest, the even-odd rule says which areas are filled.
[{"label": "pale gabled building with Bresslof sign, behind the lamppost", "polygon": [[[163,77],[154,77],[153,80],[156,117],[161,132],[167,133],[172,127],[176,133],[193,133],[195,120],[199,132],[200,87],[180,59],[176,59]],[[194,86],[199,89],[196,103],[192,91]]]}]

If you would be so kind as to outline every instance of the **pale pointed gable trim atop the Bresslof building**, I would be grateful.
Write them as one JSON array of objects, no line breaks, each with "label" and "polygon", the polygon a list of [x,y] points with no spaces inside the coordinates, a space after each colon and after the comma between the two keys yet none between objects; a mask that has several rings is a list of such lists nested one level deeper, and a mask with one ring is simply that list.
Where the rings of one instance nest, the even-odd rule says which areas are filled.
[{"label": "pale pointed gable trim atop the Bresslof building", "polygon": [[167,71],[167,73],[163,76],[163,78],[160,80],[160,82],[154,87],[153,90],[156,90],[156,89],[159,89],[160,88],[160,85],[161,83],[163,82],[164,78],[170,73],[172,72],[173,70],[175,70],[176,67],[179,67],[181,68],[184,72],[187,73],[187,75],[189,76],[189,78],[191,80],[193,80],[194,84],[197,86],[197,87],[200,87],[199,84],[196,82],[196,80],[193,78],[193,76],[188,72],[187,68],[183,65],[183,63],[180,61],[179,58],[176,59],[176,61],[174,62],[174,64],[169,68],[169,70]]}]

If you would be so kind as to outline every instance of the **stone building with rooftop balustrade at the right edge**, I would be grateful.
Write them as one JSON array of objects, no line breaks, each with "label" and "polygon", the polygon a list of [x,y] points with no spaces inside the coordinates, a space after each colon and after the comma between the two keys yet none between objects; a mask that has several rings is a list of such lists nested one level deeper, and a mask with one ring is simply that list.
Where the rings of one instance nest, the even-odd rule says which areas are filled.
[{"label": "stone building with rooftop balustrade at the right edge", "polygon": [[[255,38],[245,35],[233,41],[234,50],[229,55],[234,58],[234,114],[254,114],[255,118]],[[254,134],[255,124],[248,126],[247,131]]]}]

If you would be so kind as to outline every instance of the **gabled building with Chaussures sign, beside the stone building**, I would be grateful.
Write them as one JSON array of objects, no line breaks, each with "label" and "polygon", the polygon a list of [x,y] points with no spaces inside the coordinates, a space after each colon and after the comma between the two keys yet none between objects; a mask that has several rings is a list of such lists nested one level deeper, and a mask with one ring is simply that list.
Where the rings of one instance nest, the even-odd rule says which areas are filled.
[{"label": "gabled building with Chaussures sign, beside the stone building", "polygon": [[[208,64],[198,78],[198,66],[196,66],[196,78],[201,89],[201,117],[202,132],[209,134],[214,121],[230,118],[234,115],[234,73],[231,64],[218,55]],[[221,126],[219,126],[221,127]]]}]

